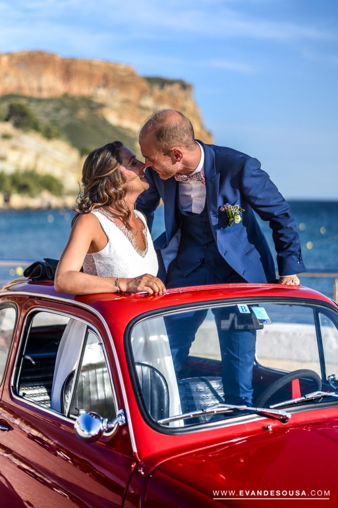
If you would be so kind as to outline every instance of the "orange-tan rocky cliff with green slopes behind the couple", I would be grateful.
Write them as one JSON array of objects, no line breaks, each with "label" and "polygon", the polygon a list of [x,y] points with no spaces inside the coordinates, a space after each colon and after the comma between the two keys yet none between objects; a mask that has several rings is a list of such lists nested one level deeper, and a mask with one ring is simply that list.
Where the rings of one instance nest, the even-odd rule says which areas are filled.
[{"label": "orange-tan rocky cliff with green slopes behind the couple", "polygon": [[[28,108],[39,126],[35,131],[8,121],[13,102]],[[0,53],[0,174],[32,169],[51,174],[63,182],[65,194],[74,196],[84,154],[120,139],[140,155],[139,127],[162,108],[182,111],[192,120],[196,137],[212,141],[189,83],[141,77],[120,63],[61,58],[42,51]],[[48,139],[46,132],[54,133],[50,138],[55,139]],[[7,202],[20,206],[18,197]],[[0,207],[3,203],[0,196]],[[22,206],[27,203],[22,200]],[[36,199],[31,203],[37,206]],[[46,204],[46,196],[41,203]],[[52,197],[47,202],[55,203]]]}]

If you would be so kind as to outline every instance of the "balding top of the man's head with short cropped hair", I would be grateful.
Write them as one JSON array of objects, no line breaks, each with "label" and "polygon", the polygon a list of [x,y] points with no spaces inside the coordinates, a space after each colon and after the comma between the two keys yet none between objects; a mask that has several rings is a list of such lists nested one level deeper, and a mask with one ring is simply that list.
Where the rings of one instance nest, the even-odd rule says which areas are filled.
[{"label": "balding top of the man's head with short cropped hair", "polygon": [[139,140],[144,138],[152,140],[162,154],[167,154],[176,146],[186,150],[196,149],[191,121],[174,109],[162,109],[149,116],[139,133]]}]

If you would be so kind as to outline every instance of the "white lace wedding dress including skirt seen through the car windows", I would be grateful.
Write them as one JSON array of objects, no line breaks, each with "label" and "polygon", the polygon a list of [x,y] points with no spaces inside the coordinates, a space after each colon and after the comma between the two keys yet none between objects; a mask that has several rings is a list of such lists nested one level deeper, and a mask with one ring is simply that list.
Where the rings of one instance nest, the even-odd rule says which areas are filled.
[{"label": "white lace wedding dress including skirt seen through the car windows", "polygon": [[[114,221],[114,217],[104,209],[94,210],[100,221],[108,242],[99,252],[87,254],[83,263],[85,273],[101,277],[137,277],[144,273],[156,276],[158,261],[150,232],[143,214],[135,210],[144,225],[142,233],[145,249],[139,250],[130,231]],[[80,350],[84,340],[86,324],[70,319],[62,335],[58,348],[54,371],[51,408],[61,410],[61,389],[67,375],[77,368]],[[167,331],[163,317],[153,317],[143,321],[132,332],[135,362],[146,363],[157,368],[166,378],[169,391],[169,415],[180,412],[176,375],[171,357]],[[180,423],[174,423],[179,426]]]}]

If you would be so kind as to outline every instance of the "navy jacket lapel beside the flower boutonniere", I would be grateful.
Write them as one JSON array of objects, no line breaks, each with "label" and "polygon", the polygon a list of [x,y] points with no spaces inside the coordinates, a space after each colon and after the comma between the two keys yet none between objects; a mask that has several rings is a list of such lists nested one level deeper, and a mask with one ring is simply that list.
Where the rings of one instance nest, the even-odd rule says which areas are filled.
[{"label": "navy jacket lapel beside the flower boutonniere", "polygon": [[215,168],[215,153],[210,146],[200,142],[204,148],[204,173],[208,215],[211,229],[217,243],[219,177]]}]

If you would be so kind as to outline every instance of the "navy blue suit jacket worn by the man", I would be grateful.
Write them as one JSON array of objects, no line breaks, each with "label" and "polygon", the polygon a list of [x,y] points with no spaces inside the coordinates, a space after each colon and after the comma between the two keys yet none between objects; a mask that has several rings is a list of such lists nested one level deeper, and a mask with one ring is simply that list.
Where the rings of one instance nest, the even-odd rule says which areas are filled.
[{"label": "navy blue suit jacket worn by the man", "polygon": [[[204,148],[206,200],[209,221],[221,256],[248,282],[274,282],[275,264],[253,210],[269,220],[277,252],[279,275],[292,275],[306,270],[301,244],[290,207],[279,193],[260,163],[232,148],[206,145]],[[174,177],[162,180],[152,168],[146,170],[149,188],[137,200],[149,228],[154,210],[162,198],[165,232],[155,240],[155,248],[166,247],[180,227],[176,207],[178,183]],[[239,224],[228,223],[227,212],[219,211],[225,203],[244,208]]]}]

